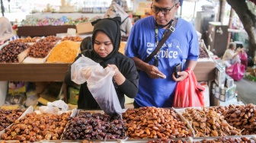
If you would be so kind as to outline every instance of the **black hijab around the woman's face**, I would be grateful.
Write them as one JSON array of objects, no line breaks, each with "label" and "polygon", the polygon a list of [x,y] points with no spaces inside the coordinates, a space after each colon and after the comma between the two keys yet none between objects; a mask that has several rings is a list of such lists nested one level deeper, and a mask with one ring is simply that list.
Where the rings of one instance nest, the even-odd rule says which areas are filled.
[{"label": "black hijab around the woman's face", "polygon": [[[104,18],[104,19],[98,19],[97,21],[91,22],[91,24],[94,26],[94,30],[92,34],[93,52],[97,58],[102,59],[104,62],[106,62],[110,58],[113,58],[114,55],[119,50],[120,40],[121,40],[120,23],[121,23],[121,17]],[[110,37],[110,40],[112,41],[114,46],[113,51],[110,52],[110,54],[104,58],[99,56],[98,53],[94,51],[95,35],[99,30],[106,33],[107,36]]]}]

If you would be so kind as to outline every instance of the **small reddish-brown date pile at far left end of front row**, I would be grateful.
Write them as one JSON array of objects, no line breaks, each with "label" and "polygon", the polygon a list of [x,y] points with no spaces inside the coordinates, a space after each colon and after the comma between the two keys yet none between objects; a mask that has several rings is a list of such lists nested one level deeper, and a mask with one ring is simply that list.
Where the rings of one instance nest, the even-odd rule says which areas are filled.
[{"label": "small reddish-brown date pile at far left end of front row", "polygon": [[0,110],[0,131],[10,126],[25,110]]}]

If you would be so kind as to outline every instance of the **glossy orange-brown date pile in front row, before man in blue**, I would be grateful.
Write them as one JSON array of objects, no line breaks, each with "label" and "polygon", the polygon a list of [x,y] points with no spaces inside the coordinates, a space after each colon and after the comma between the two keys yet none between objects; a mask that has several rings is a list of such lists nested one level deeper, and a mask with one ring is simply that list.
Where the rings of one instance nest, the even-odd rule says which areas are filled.
[{"label": "glossy orange-brown date pile in front row, before man in blue", "polygon": [[128,109],[123,113],[129,138],[186,138],[192,136],[187,124],[174,110],[152,107]]}]

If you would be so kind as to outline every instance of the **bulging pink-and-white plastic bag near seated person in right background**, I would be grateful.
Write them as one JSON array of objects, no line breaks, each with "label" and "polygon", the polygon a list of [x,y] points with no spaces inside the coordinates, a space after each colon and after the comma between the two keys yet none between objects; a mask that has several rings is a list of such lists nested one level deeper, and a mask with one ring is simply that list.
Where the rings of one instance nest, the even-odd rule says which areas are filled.
[{"label": "bulging pink-and-white plastic bag near seated person in right background", "polygon": [[245,75],[245,65],[236,62],[229,68],[226,68],[226,74],[228,74],[235,81],[240,81]]}]

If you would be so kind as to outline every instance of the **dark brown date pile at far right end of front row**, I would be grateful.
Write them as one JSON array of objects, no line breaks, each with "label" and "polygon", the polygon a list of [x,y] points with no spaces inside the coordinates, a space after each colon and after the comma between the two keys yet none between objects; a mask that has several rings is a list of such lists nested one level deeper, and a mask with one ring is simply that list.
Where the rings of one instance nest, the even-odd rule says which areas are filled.
[{"label": "dark brown date pile at far right end of front row", "polygon": [[242,135],[256,134],[256,107],[250,103],[247,105],[229,105],[215,107],[222,113],[229,125],[242,130]]}]

